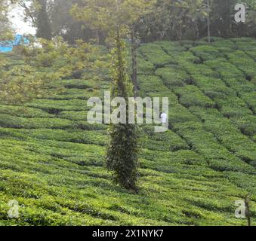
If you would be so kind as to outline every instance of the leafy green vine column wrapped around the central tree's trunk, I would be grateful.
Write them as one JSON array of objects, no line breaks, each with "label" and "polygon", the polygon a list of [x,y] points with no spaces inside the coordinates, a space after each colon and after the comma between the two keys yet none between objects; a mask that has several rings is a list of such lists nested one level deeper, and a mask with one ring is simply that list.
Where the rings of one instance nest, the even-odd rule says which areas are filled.
[{"label": "leafy green vine column wrapped around the central tree's trunk", "polygon": [[125,62],[125,43],[116,36],[116,47],[112,50],[112,80],[113,97],[125,99],[126,107],[120,110],[125,113],[125,123],[111,124],[109,145],[106,151],[106,166],[113,175],[116,183],[128,190],[137,190],[137,162],[138,162],[138,128],[135,124],[128,124],[128,98],[134,96],[131,81],[127,73]]}]

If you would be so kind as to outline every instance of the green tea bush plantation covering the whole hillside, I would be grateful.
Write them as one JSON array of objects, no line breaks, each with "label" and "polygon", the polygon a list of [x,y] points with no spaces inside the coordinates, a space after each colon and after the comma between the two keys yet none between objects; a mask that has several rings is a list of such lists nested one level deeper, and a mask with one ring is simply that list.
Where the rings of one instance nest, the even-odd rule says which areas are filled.
[{"label": "green tea bush plantation covering the whole hillside", "polygon": [[159,41],[137,55],[140,96],[170,102],[168,132],[142,127],[139,194],[113,185],[107,126],[86,121],[108,78],[63,80],[57,95],[0,105],[0,225],[246,225],[235,202],[247,194],[256,225],[256,41]]}]

